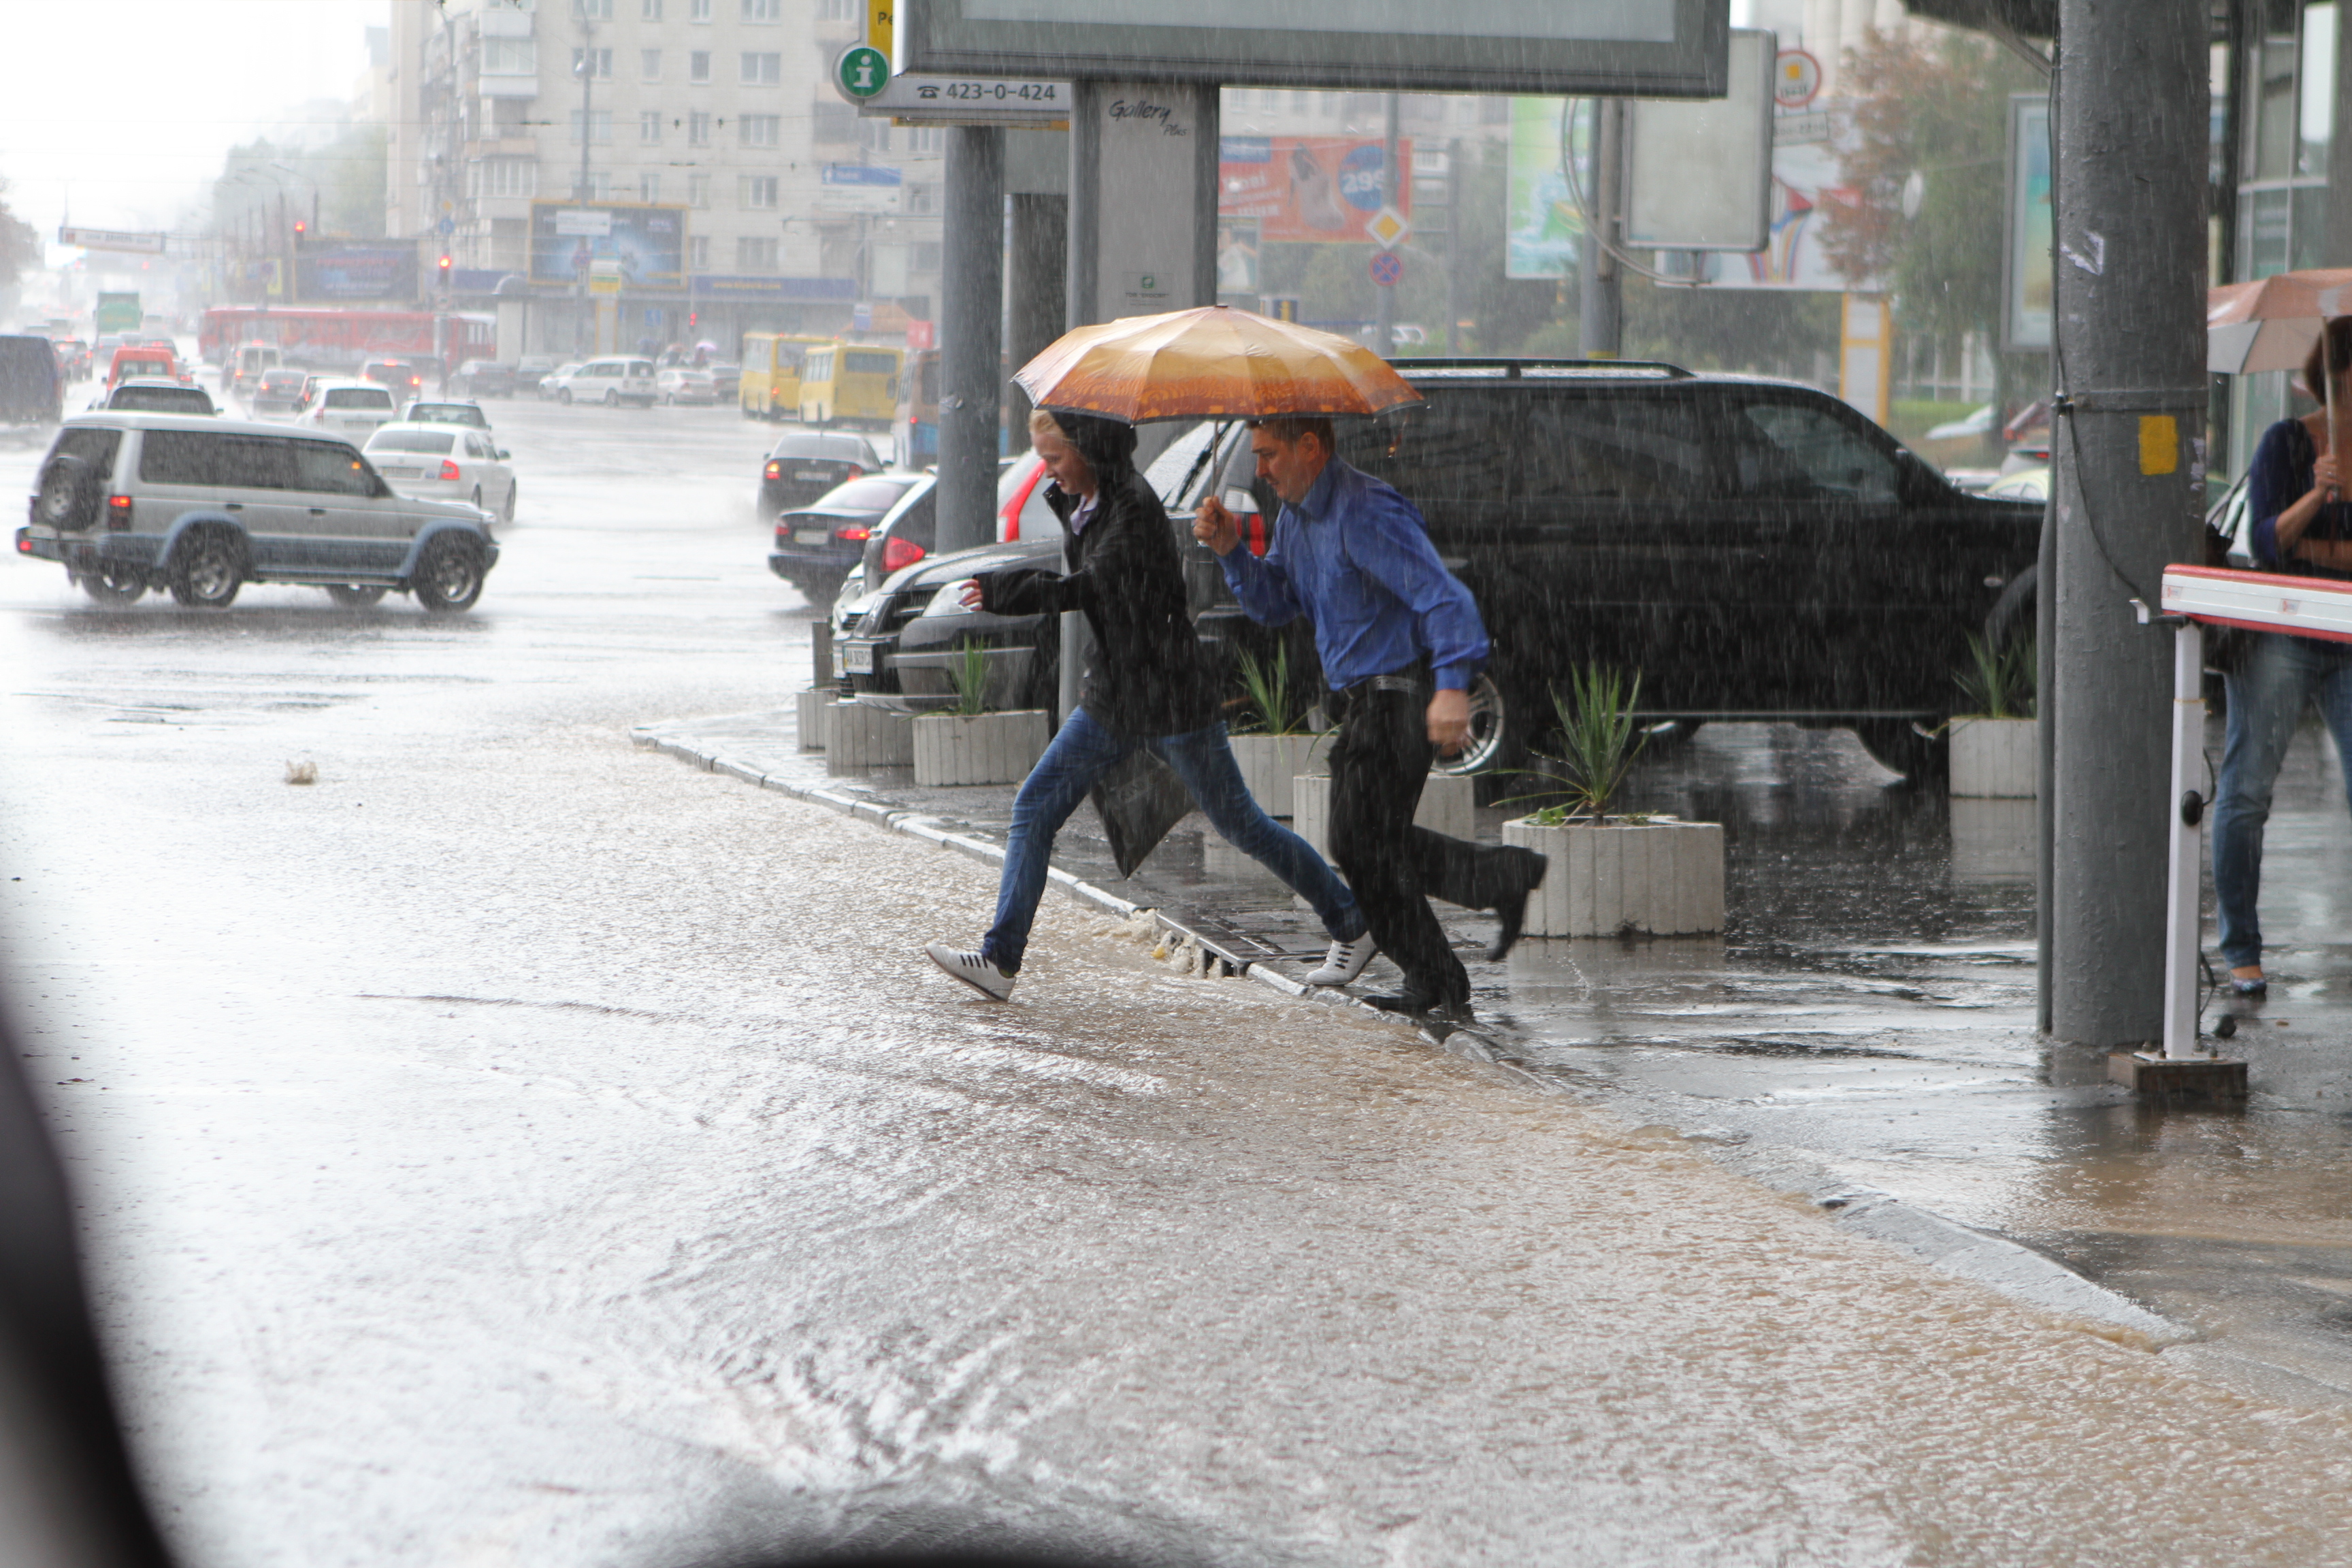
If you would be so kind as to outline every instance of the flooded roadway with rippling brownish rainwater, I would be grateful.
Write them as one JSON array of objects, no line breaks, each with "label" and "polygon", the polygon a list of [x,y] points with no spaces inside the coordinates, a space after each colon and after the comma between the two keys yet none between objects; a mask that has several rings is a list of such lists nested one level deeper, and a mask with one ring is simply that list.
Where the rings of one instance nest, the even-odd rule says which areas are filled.
[{"label": "flooded roadway with rippling brownish rainwater", "polygon": [[626,741],[800,684],[760,433],[494,416],[459,623],[0,576],[7,994],[188,1561],[2352,1552],[2340,1410],[1606,1103],[1061,900],[967,1001],[983,867]]}]

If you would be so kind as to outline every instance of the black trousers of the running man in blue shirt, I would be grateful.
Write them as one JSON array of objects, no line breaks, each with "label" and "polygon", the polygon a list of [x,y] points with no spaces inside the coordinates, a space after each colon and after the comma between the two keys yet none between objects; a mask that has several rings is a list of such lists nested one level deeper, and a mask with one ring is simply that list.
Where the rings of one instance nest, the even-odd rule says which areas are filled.
[{"label": "black trousers of the running man in blue shirt", "polygon": [[1470,1001],[1470,976],[1454,957],[1430,898],[1489,910],[1508,891],[1501,846],[1463,844],[1414,827],[1430,776],[1428,691],[1334,693],[1331,860],[1364,905],[1381,952],[1404,971],[1406,992],[1439,1004]]}]

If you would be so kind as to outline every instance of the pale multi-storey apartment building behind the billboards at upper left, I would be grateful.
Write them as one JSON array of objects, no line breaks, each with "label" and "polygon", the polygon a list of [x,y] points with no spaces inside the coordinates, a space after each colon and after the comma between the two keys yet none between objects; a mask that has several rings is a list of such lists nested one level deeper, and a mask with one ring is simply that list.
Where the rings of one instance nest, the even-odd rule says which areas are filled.
[{"label": "pale multi-storey apartment building behind the billboards at upper left", "polygon": [[630,287],[626,341],[931,317],[941,132],[861,120],[833,92],[858,0],[390,9],[386,230],[447,254],[459,296],[524,277],[534,350],[567,350],[583,310],[543,252],[534,275],[534,202],[682,209],[682,275]]}]

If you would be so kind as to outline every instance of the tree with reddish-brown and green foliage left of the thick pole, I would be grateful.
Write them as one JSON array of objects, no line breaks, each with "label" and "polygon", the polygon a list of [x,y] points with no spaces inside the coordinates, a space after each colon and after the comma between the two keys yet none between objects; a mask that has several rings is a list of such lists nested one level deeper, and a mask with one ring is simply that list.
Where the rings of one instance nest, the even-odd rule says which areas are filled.
[{"label": "tree with reddish-brown and green foliage left of the thick pole", "polygon": [[[1846,52],[1846,89],[1853,143],[1842,174],[1858,200],[1830,209],[1823,247],[1849,277],[1893,287],[1898,327],[1997,341],[2009,94],[2039,92],[2042,80],[1969,33],[1872,31]],[[1917,212],[1905,216],[1915,179]]]}]

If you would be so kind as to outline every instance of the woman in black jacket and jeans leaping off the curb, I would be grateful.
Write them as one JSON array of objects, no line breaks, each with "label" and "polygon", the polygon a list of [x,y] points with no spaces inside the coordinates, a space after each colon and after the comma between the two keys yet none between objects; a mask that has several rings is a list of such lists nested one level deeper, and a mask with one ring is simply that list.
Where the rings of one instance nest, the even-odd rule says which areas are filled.
[{"label": "woman in black jacket and jeans leaping off the curb", "polygon": [[1080,705],[1061,722],[1014,799],[995,924],[976,952],[946,943],[924,952],[981,994],[1009,997],[1044,896],[1054,835],[1103,773],[1148,745],[1176,769],[1235,849],[1282,877],[1322,917],[1331,952],[1308,983],[1355,980],[1374,954],[1364,912],[1324,858],[1265,816],[1242,783],[1225,724],[1216,717],[1216,675],[1185,614],[1176,531],[1134,465],[1136,428],[1094,414],[1037,409],[1030,414],[1030,442],[1054,475],[1047,505],[1070,536],[1070,574],[1035,567],[990,571],[964,588],[964,604],[995,616],[1075,609],[1094,628],[1094,661]]}]

